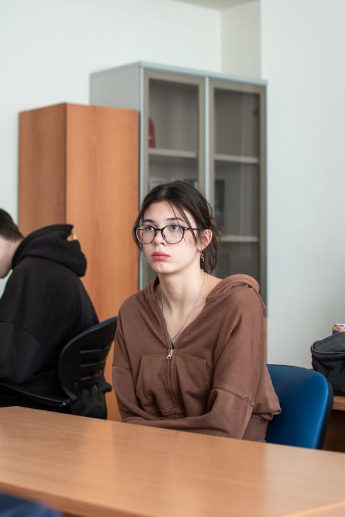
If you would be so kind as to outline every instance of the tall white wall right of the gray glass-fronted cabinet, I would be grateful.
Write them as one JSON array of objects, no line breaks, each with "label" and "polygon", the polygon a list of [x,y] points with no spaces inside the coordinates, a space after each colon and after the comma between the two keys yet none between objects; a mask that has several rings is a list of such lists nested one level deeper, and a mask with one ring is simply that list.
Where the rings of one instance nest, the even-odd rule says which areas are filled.
[{"label": "tall white wall right of the gray glass-fronted cabinet", "polygon": [[268,361],[310,366],[345,321],[345,2],[261,0]]}]

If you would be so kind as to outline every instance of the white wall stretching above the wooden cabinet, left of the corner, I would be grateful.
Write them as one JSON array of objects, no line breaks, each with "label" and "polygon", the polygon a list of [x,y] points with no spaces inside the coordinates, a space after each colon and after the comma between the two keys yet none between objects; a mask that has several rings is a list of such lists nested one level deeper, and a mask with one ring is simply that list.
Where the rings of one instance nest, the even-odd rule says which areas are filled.
[{"label": "white wall stretching above the wooden cabinet, left of the corner", "polygon": [[220,71],[216,10],[170,0],[0,0],[0,13],[0,207],[16,221],[19,112],[88,103],[90,72],[133,61]]}]

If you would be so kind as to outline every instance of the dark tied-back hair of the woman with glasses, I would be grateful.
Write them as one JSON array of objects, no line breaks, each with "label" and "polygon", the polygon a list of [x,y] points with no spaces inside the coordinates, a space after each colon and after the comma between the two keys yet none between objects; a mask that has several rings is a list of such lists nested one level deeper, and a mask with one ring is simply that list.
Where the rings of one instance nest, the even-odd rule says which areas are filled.
[{"label": "dark tied-back hair of the woman with glasses", "polygon": [[[213,233],[212,241],[210,241],[209,245],[203,250],[204,261],[200,261],[200,267],[206,271],[206,273],[211,273],[215,269],[217,263],[219,262],[219,251],[220,251],[220,232],[218,228],[215,226],[214,218],[213,218],[213,209],[205,199],[203,194],[199,192],[193,185],[186,183],[184,181],[171,181],[170,183],[161,183],[161,185],[157,185],[152,188],[150,192],[146,195],[144,201],[141,204],[140,212],[135,221],[135,227],[142,223],[144,218],[144,214],[148,207],[152,203],[157,203],[158,201],[167,201],[172,209],[178,210],[181,215],[184,216],[184,220],[186,221],[186,225],[189,228],[192,228],[190,221],[186,215],[186,211],[188,211],[195,222],[197,223],[197,227],[202,230],[211,230]],[[197,242],[197,236],[195,232],[191,232],[194,236],[195,242]],[[133,236],[140,250],[142,250],[142,244],[137,240],[135,235],[135,228],[133,230]]]}]

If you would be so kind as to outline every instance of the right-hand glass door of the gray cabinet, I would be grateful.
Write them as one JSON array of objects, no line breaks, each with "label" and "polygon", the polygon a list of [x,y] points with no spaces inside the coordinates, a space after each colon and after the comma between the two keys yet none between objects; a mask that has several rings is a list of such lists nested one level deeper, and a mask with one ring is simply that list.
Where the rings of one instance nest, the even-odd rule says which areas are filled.
[{"label": "right-hand glass door of the gray cabinet", "polygon": [[265,298],[264,113],[264,86],[210,81],[210,202],[222,234],[215,274],[249,274]]}]

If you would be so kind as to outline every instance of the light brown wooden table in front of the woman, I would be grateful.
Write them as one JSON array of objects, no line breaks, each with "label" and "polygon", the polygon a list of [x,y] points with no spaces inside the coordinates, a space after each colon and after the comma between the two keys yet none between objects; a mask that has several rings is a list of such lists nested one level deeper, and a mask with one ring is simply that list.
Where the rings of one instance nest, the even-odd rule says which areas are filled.
[{"label": "light brown wooden table in front of the woman", "polygon": [[0,491],[79,516],[338,517],[345,455],[4,407]]}]

